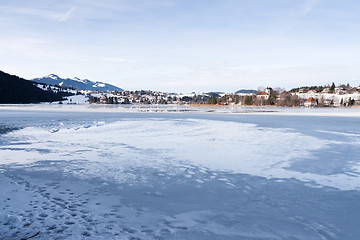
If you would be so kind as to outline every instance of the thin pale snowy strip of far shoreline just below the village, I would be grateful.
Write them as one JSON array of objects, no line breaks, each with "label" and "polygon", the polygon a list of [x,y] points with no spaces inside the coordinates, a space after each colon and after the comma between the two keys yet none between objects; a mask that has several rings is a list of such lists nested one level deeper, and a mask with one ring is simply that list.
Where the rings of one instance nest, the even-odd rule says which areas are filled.
[{"label": "thin pale snowy strip of far shoreline just below the village", "polygon": [[[225,107],[223,107],[225,106]],[[272,116],[360,117],[360,107],[277,107],[236,105],[0,104],[1,112],[201,113]]]}]

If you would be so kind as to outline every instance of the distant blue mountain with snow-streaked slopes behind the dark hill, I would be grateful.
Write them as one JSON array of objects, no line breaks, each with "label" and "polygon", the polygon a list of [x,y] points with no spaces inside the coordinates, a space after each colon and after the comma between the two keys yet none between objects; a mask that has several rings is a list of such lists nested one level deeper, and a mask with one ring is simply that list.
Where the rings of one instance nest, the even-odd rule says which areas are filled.
[{"label": "distant blue mountain with snow-streaked slopes behind the dark hill", "polygon": [[32,81],[45,83],[49,85],[58,85],[61,87],[72,87],[79,90],[93,90],[93,91],[123,91],[123,89],[111,84],[103,82],[93,82],[88,79],[74,78],[60,78],[55,74],[50,74],[41,78],[34,78]]}]

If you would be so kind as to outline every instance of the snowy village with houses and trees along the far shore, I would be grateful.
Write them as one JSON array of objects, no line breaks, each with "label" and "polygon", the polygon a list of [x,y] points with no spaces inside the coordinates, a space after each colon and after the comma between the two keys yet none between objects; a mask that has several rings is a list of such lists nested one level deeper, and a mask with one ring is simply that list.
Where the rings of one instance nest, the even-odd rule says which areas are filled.
[{"label": "snowy village with houses and trees along the far shore", "polygon": [[286,91],[280,88],[239,90],[235,93],[208,92],[197,94],[165,93],[151,90],[78,91],[91,104],[211,104],[284,107],[339,107],[360,105],[360,87],[347,85],[313,86]]}]

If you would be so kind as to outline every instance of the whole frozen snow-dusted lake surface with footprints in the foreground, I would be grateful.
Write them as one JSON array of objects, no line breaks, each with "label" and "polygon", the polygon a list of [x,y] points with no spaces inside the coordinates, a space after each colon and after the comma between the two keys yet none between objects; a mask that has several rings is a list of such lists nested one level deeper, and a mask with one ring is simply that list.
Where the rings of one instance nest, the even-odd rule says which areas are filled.
[{"label": "whole frozen snow-dusted lake surface with footprints in the foreground", "polygon": [[360,239],[360,109],[0,106],[0,239]]}]

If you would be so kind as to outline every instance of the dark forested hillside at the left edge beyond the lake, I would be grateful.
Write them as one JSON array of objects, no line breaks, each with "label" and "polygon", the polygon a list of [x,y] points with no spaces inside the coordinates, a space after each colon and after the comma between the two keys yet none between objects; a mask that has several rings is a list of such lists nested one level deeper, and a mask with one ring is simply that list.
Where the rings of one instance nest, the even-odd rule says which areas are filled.
[{"label": "dark forested hillside at the left edge beyond the lake", "polygon": [[45,91],[36,83],[0,71],[0,103],[39,103],[61,101],[68,93]]}]

